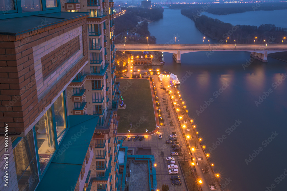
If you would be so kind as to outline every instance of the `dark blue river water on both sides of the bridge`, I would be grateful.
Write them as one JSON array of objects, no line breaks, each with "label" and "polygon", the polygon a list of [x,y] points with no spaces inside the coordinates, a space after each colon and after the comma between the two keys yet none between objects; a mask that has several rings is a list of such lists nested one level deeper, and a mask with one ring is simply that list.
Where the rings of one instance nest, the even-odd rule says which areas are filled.
[{"label": "dark blue river water on both sides of the bridge", "polygon": [[[203,43],[204,35],[180,10],[164,9],[164,18],[150,23],[149,30],[158,44],[174,44],[174,36],[181,44]],[[179,77],[179,90],[224,190],[287,190],[287,63],[269,57],[268,63],[249,64],[249,55],[195,52],[182,54],[177,64],[164,53],[163,69]]]}]

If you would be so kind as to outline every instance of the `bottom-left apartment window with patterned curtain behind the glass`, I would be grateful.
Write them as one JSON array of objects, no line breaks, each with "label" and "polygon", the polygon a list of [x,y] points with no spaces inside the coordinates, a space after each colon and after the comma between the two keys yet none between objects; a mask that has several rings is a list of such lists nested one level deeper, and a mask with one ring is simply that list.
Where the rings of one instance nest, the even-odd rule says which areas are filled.
[{"label": "bottom-left apartment window with patterned curtain behind the glass", "polygon": [[33,129],[14,147],[13,155],[19,190],[35,190],[39,176]]}]

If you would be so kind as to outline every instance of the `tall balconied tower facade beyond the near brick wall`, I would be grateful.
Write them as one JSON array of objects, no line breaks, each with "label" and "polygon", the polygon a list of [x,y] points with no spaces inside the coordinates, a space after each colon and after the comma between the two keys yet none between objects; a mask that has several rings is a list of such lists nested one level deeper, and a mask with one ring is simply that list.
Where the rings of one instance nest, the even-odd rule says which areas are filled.
[{"label": "tall balconied tower facade beyond the near brick wall", "polygon": [[67,87],[69,115],[98,115],[86,190],[117,190],[117,105],[113,0],[67,0],[62,11],[88,12],[88,63]]}]

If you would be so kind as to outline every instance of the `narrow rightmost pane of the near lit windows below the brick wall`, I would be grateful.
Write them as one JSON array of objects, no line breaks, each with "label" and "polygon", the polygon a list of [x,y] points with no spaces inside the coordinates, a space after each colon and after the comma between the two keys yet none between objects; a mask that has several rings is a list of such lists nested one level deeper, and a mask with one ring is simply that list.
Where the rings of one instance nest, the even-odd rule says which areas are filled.
[{"label": "narrow rightmost pane of the near lit windows below the brick wall", "polygon": [[64,132],[65,128],[67,127],[66,121],[65,121],[64,103],[65,102],[64,102],[63,94],[61,94],[61,96],[54,102],[54,112],[55,112],[58,143],[63,137],[61,135]]}]

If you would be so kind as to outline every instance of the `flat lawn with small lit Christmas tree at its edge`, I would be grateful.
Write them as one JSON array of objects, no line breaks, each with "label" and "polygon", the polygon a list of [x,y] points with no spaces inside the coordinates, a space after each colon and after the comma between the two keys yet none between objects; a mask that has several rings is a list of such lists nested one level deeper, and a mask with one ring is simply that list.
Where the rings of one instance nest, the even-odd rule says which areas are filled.
[{"label": "flat lawn with small lit Christmas tree at its edge", "polygon": [[[150,82],[147,79],[117,79],[125,109],[118,109],[120,116],[118,133],[145,133],[156,128]],[[132,128],[129,122],[132,122]]]}]

